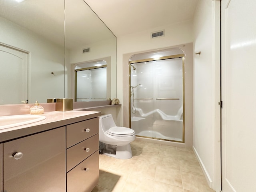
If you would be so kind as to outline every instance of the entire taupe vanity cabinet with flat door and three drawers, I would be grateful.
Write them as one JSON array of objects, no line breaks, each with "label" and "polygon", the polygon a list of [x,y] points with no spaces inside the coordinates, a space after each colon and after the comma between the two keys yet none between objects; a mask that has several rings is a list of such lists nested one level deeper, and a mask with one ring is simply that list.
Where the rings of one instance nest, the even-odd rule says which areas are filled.
[{"label": "entire taupe vanity cabinet with flat door and three drawers", "polygon": [[[0,154],[3,154],[0,191],[90,192],[99,179],[97,116],[100,112],[90,113],[65,122],[46,123],[39,128],[17,129],[17,132],[33,132],[3,140],[0,143]],[[61,112],[56,114],[63,116]]]}]

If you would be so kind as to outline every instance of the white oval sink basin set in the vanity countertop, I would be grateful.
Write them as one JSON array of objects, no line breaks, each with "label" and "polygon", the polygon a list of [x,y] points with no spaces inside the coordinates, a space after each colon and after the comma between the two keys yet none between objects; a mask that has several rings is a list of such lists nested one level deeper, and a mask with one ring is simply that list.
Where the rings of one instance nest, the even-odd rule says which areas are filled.
[{"label": "white oval sink basin set in the vanity countertop", "polygon": [[41,115],[0,116],[0,130],[42,121],[45,118],[45,116]]}]

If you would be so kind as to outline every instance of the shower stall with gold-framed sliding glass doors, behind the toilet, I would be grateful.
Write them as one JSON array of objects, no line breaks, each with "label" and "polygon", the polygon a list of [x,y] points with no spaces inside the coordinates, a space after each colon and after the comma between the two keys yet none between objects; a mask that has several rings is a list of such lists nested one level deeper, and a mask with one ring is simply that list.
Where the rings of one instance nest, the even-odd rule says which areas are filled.
[{"label": "shower stall with gold-framed sliding glass doors, behind the toilet", "polygon": [[184,143],[184,54],[130,65],[130,127],[136,136]]}]

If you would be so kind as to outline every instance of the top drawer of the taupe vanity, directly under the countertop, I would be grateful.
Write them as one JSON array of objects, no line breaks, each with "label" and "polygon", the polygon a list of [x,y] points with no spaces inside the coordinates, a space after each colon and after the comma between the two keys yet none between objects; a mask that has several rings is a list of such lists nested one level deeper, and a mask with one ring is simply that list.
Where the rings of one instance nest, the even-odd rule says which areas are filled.
[{"label": "top drawer of the taupe vanity, directly under the countertop", "polygon": [[74,123],[66,126],[66,148],[69,148],[99,132],[98,118]]}]

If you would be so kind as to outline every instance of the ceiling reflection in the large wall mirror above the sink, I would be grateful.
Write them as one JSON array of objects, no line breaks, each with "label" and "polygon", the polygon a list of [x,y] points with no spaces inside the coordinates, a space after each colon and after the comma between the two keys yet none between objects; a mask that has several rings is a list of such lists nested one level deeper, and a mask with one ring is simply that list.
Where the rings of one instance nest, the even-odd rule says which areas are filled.
[{"label": "ceiling reflection in the large wall mirror above the sink", "polygon": [[1,17],[70,49],[113,38],[83,0],[0,0]]}]

